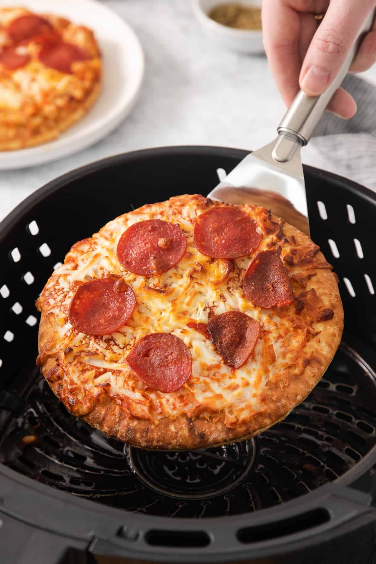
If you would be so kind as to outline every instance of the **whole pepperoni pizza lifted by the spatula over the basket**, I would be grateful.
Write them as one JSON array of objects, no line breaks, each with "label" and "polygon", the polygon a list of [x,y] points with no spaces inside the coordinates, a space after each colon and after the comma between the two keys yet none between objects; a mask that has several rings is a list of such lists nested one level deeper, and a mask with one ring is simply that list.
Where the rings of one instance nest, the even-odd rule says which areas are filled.
[{"label": "whole pepperoni pizza lifted by the spatula over the basket", "polygon": [[317,245],[255,205],[176,196],[74,244],[37,301],[37,364],[74,415],[138,447],[241,440],[280,421],[343,328]]}]

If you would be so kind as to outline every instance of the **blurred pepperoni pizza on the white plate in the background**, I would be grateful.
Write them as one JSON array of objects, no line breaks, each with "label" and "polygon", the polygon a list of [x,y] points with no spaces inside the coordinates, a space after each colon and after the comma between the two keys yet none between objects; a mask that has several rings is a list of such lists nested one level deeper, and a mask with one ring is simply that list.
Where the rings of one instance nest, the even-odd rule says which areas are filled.
[{"label": "blurred pepperoni pizza on the white plate in the background", "polygon": [[55,139],[98,98],[92,31],[63,17],[0,8],[0,151]]}]

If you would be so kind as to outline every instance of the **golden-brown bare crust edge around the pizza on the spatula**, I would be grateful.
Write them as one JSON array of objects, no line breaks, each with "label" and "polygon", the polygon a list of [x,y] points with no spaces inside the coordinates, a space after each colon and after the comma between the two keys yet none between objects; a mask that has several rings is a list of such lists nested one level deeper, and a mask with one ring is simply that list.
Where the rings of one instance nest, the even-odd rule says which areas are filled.
[{"label": "golden-brown bare crust edge around the pizza on the spatula", "polygon": [[[189,201],[194,197],[180,198]],[[275,216],[272,219],[278,222]],[[297,246],[312,245],[307,235],[287,223],[284,224],[284,235],[295,236]],[[73,255],[83,248],[87,249],[88,245],[90,240],[84,240],[81,249],[80,244],[78,248],[76,246],[76,249],[73,249]],[[315,255],[315,263],[325,263],[325,257],[321,252]],[[250,410],[249,420],[245,422],[229,426],[225,409],[209,416],[206,414],[205,417],[188,417],[182,414],[177,417],[162,417],[158,421],[151,422],[145,418],[132,416],[110,396],[101,399],[99,403],[94,402],[91,411],[80,414],[79,402],[76,403],[76,400],[72,402],[61,394],[63,390],[61,378],[64,378],[64,375],[55,360],[59,349],[59,334],[44,312],[42,312],[38,337],[38,358],[42,373],[54,394],[70,411],[81,416],[94,428],[132,446],[149,450],[187,450],[253,437],[284,419],[291,409],[306,398],[328,368],[339,345],[343,330],[343,309],[335,275],[328,268],[311,269],[309,272],[315,274],[312,279],[314,286],[325,306],[333,310],[333,319],[320,324],[320,340],[317,341],[317,346],[315,345],[309,364],[304,368],[302,352],[300,360],[303,361],[303,368],[300,373],[298,371],[296,374],[290,374],[287,380],[280,377],[269,378],[259,397],[261,408],[256,412]]]}]

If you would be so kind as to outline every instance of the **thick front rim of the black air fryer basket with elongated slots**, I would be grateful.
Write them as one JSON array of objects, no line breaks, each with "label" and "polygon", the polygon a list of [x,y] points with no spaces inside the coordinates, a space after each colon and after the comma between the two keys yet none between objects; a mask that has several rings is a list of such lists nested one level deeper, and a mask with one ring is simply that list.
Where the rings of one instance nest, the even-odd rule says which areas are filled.
[{"label": "thick front rim of the black air fryer basket with elongated slots", "polygon": [[[371,496],[352,488],[326,484],[296,500],[257,513],[236,515],[226,518],[207,518],[204,522],[196,519],[154,517],[128,513],[125,510],[103,506],[93,501],[77,498],[69,493],[55,490],[46,484],[38,483],[0,465],[0,490],[15,488],[8,496],[16,510],[0,506],[3,515],[16,518],[39,531],[45,531],[69,540],[81,541],[95,554],[107,556],[127,556],[127,558],[147,559],[152,561],[176,562],[176,549],[164,546],[150,546],[145,538],[149,532],[161,532],[173,535],[189,531],[193,535],[205,532],[210,545],[198,550],[179,548],[180,562],[228,562],[229,559],[241,561],[252,557],[268,557],[307,548],[307,545],[319,545],[326,540],[340,537],[345,531],[352,531],[361,524],[376,520],[376,509],[370,508]],[[320,495],[317,492],[320,491]],[[316,494],[316,495],[315,495]],[[304,503],[302,504],[302,500]],[[6,496],[5,496],[6,500]],[[21,501],[20,501],[21,500]],[[9,505],[7,503],[7,505]],[[36,518],[35,508],[43,507],[43,514]],[[312,528],[276,539],[236,543],[237,533],[247,528],[266,525],[282,525],[290,518],[300,518],[315,511],[324,511],[330,517]],[[57,518],[56,518],[57,515]],[[61,519],[60,515],[64,515]],[[36,522],[37,521],[37,522]],[[35,528],[34,528],[35,527]],[[136,532],[138,542],[121,531]],[[328,536],[329,535],[329,536]],[[123,542],[122,542],[123,541]],[[30,562],[34,564],[34,562]],[[55,564],[51,562],[51,564]],[[57,561],[56,561],[57,564]]]}]

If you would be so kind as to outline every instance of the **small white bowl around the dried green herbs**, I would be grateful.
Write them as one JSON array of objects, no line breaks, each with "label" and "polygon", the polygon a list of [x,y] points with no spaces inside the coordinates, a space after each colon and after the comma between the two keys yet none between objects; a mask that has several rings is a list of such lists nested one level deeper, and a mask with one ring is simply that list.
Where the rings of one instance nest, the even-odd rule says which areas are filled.
[{"label": "small white bowl around the dried green herbs", "polygon": [[[218,45],[235,51],[249,54],[264,52],[262,30],[258,29],[235,29],[227,25],[219,24],[209,17],[209,12],[220,4],[231,0],[192,0],[194,15],[209,36]],[[237,0],[239,1],[239,0]],[[262,0],[240,0],[246,6],[261,7]]]}]

